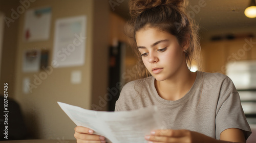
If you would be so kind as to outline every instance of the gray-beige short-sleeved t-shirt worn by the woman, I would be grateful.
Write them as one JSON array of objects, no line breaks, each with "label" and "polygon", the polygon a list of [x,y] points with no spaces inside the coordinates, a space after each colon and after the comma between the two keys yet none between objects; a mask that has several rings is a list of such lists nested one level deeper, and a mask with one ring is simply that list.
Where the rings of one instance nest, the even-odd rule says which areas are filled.
[{"label": "gray-beige short-sleeved t-shirt worn by the woman", "polygon": [[246,139],[251,134],[238,91],[227,76],[197,71],[193,86],[176,101],[162,99],[154,83],[153,76],[127,83],[115,111],[156,105],[166,129],[187,129],[216,139],[229,128],[243,130]]}]

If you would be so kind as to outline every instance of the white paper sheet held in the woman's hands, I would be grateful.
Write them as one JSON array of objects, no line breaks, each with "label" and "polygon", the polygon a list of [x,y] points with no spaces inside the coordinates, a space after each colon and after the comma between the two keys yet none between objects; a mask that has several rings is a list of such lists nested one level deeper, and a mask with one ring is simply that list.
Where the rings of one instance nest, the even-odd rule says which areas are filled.
[{"label": "white paper sheet held in the woman's hands", "polygon": [[162,118],[156,106],[132,111],[93,111],[58,102],[61,109],[77,126],[95,131],[106,137],[106,142],[145,143],[145,135],[154,129],[161,129]]}]

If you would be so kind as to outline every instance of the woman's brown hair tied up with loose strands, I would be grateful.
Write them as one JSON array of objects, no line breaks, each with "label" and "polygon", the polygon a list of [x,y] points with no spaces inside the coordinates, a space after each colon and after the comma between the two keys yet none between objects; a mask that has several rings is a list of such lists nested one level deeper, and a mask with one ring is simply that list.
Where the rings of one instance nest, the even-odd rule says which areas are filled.
[{"label": "woman's brown hair tied up with loose strands", "polygon": [[[193,61],[199,63],[201,46],[198,37],[198,26],[185,12],[185,0],[131,0],[131,19],[126,25],[126,35],[131,38],[131,46],[138,57],[138,79],[151,74],[145,68],[138,51],[135,34],[142,28],[151,27],[168,32],[182,45],[189,37],[189,48],[186,62],[190,69]],[[198,64],[199,65],[199,64]]]}]

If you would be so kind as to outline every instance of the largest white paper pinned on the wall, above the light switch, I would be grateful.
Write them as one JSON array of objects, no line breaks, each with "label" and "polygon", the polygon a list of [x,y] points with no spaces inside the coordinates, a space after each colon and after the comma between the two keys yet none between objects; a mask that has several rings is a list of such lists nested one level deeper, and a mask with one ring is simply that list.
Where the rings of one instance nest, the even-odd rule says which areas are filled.
[{"label": "largest white paper pinned on the wall, above the light switch", "polygon": [[57,67],[84,64],[86,19],[83,15],[56,20],[53,60]]}]

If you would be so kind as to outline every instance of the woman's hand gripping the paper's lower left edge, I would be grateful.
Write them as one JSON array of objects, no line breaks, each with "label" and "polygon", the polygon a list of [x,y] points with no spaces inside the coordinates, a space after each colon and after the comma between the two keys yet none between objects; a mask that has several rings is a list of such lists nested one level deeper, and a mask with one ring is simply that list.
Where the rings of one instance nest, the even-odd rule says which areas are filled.
[{"label": "woman's hand gripping the paper's lower left edge", "polygon": [[76,138],[77,143],[87,143],[87,142],[105,143],[106,142],[104,136],[96,135],[93,133],[94,131],[89,128],[77,126],[75,127],[74,136]]}]

